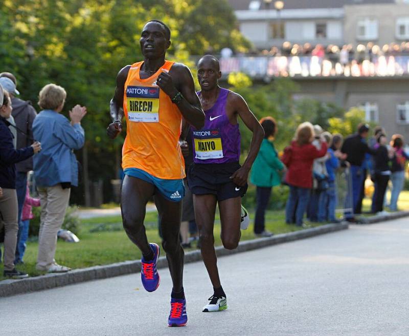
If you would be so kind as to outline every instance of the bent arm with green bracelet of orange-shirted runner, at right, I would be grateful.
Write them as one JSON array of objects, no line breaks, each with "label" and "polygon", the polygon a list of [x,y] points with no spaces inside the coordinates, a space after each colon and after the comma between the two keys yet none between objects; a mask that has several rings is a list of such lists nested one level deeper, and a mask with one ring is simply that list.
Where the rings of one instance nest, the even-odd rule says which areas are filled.
[{"label": "bent arm with green bracelet of orange-shirted runner, at right", "polygon": [[196,94],[193,76],[188,67],[175,63],[169,73],[162,72],[158,76],[156,84],[173,99],[187,122],[196,129],[201,129],[205,125],[205,112]]}]

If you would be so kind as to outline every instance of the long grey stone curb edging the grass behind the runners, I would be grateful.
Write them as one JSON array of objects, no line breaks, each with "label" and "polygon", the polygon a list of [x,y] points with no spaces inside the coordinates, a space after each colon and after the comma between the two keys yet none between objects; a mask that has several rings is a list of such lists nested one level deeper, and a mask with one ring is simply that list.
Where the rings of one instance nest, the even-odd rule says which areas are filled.
[{"label": "long grey stone curb edging the grass behind the runners", "polygon": [[[239,246],[233,250],[225,249],[223,246],[217,246],[215,249],[218,257],[228,256],[252,249],[336,232],[347,228],[348,223],[327,224],[296,232],[279,234],[269,238],[246,240],[240,242]],[[201,260],[200,250],[190,251],[185,254],[185,264],[199,260]],[[167,266],[168,262],[166,260],[166,257],[161,257],[158,259],[157,268],[164,268]],[[0,297],[7,297],[31,291],[61,287],[85,281],[118,277],[126,274],[137,273],[140,271],[140,261],[124,261],[110,265],[74,269],[70,272],[61,274],[48,274],[22,280],[4,280],[0,282]]]}]

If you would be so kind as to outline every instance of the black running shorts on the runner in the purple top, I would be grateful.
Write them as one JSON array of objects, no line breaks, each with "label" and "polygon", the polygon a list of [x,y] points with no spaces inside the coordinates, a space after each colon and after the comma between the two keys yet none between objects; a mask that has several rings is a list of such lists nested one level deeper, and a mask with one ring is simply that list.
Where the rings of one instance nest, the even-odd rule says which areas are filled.
[{"label": "black running shorts on the runner in the purple top", "polygon": [[243,197],[247,183],[238,186],[230,177],[240,168],[238,162],[193,163],[188,171],[188,185],[193,195],[215,195],[218,201]]}]

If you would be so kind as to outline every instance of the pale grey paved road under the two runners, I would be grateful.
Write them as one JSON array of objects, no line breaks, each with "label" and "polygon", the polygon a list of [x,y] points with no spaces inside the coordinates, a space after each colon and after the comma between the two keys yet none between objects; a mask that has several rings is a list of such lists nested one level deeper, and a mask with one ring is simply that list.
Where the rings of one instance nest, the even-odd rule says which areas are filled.
[{"label": "pale grey paved road under the two runners", "polygon": [[168,328],[170,277],[139,275],[0,299],[2,335],[409,335],[409,220],[352,226],[219,260],[229,309],[201,263],[185,268],[188,325]]}]

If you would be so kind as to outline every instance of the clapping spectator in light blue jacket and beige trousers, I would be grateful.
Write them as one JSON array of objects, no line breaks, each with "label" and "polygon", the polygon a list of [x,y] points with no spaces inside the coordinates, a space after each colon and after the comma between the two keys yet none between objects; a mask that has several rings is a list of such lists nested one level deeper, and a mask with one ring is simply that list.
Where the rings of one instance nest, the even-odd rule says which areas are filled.
[{"label": "clapping spectator in light blue jacket and beige trousers", "polygon": [[38,105],[43,109],[33,122],[33,134],[43,143],[40,155],[34,157],[34,178],[41,202],[40,232],[36,268],[47,272],[66,272],[70,268],[55,260],[57,232],[64,221],[70,200],[71,186],[78,185],[78,164],[74,150],[84,145],[85,134],[81,119],[85,107],[76,105],[70,111],[70,121],[60,112],[66,92],[60,86],[48,84],[41,89]]}]

